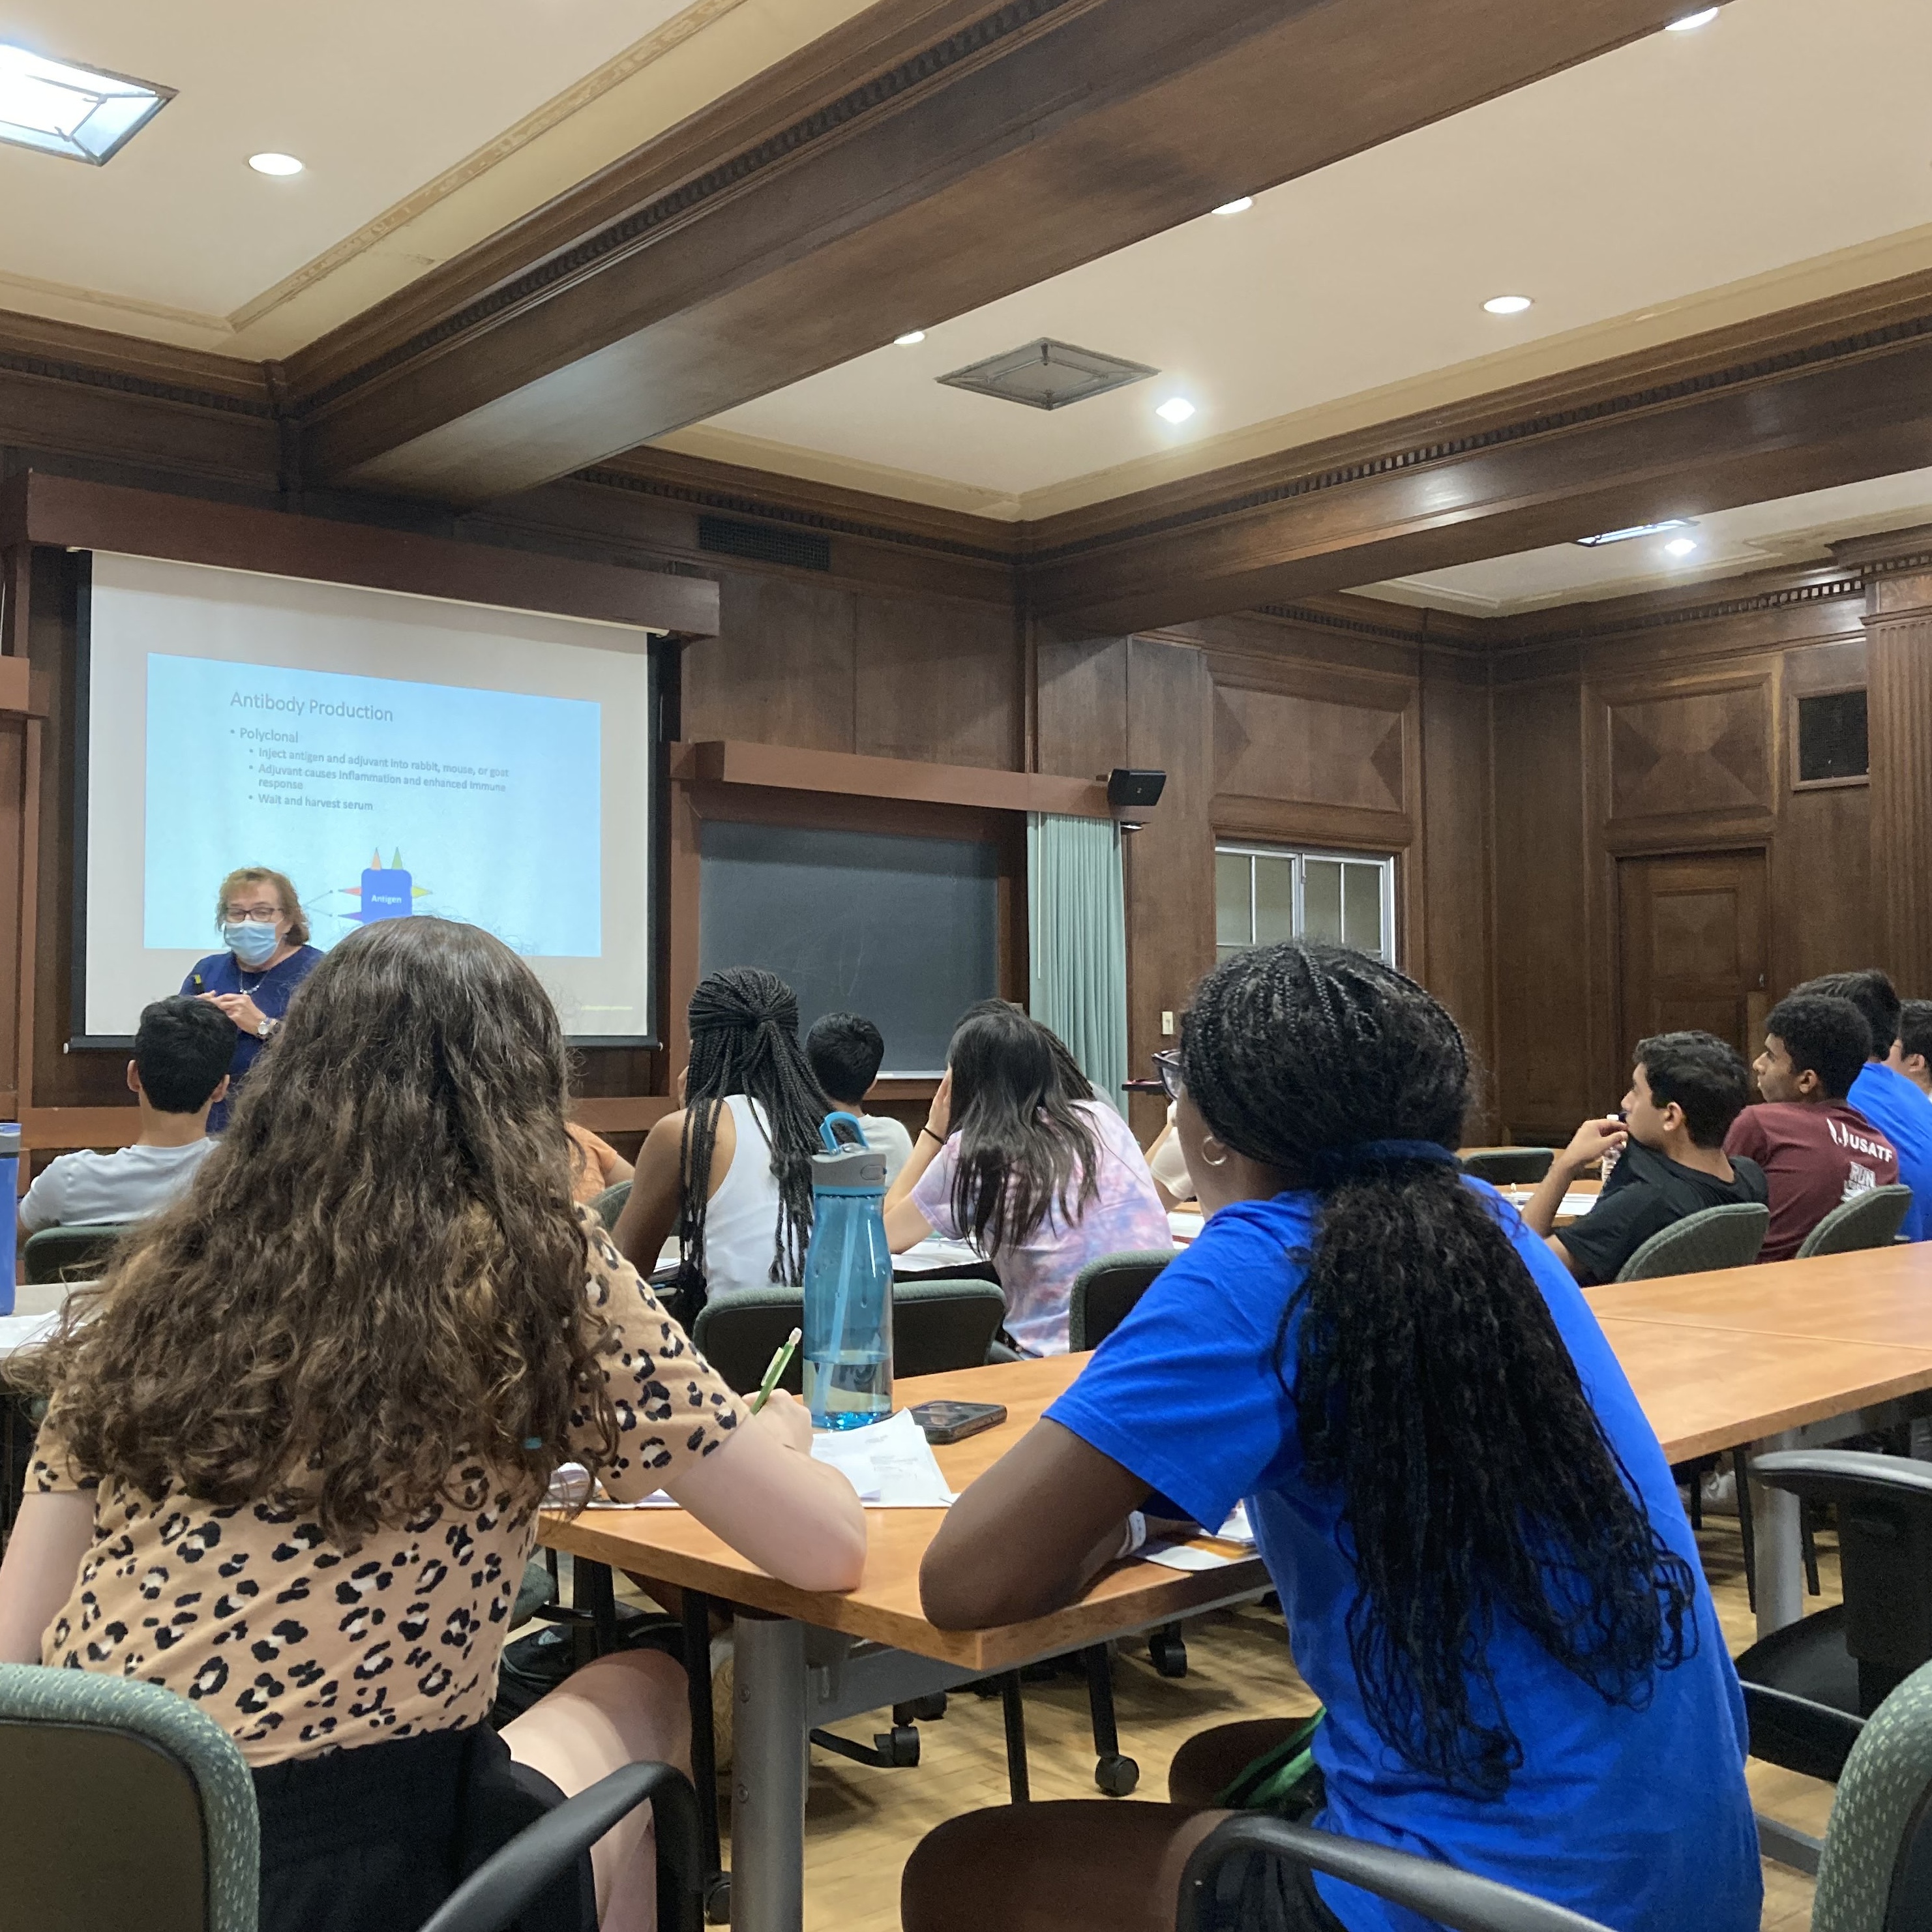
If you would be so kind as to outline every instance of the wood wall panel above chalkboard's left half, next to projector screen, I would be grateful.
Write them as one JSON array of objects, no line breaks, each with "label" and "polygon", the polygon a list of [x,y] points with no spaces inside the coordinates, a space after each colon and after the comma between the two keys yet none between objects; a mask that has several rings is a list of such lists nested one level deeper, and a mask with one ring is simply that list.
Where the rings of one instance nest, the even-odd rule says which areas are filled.
[{"label": "wood wall panel above chalkboard's left half, next to projector screen", "polygon": [[719,636],[684,653],[684,736],[856,752],[856,672],[854,591],[721,570]]}]

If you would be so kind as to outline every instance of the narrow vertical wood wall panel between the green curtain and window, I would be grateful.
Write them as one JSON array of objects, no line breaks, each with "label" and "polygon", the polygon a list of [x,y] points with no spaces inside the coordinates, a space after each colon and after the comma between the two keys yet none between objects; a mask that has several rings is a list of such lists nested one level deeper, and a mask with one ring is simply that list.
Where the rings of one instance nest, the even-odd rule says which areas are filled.
[{"label": "narrow vertical wood wall panel between the green curtain and window", "polygon": [[[1213,680],[1206,657],[1184,643],[1132,638],[1126,645],[1126,763],[1167,773],[1159,806],[1124,837],[1128,1072],[1177,1043],[1161,1014],[1186,1009],[1213,966]],[[1142,1146],[1161,1126],[1157,1099],[1134,1095]]]}]

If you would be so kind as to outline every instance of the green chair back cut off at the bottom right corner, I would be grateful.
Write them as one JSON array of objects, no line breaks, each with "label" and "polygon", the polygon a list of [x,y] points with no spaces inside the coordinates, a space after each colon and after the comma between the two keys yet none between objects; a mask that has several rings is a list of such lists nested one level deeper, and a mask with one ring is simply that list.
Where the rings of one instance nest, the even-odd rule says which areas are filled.
[{"label": "green chair back cut off at the bottom right corner", "polygon": [[1932,1918],[1932,1663],[1864,1721],[1818,1857],[1812,1932],[1911,1932]]}]

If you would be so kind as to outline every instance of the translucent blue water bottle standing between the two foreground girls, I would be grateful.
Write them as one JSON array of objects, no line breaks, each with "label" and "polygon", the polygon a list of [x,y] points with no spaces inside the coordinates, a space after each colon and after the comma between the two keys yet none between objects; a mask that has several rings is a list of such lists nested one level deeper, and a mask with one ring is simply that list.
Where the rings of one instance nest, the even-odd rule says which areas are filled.
[{"label": "translucent blue water bottle standing between the two foreground girls", "polygon": [[[850,1128],[840,1138],[835,1128]],[[806,1250],[806,1403],[815,1430],[856,1430],[893,1412],[893,1250],[885,1155],[848,1113],[819,1122]]]}]

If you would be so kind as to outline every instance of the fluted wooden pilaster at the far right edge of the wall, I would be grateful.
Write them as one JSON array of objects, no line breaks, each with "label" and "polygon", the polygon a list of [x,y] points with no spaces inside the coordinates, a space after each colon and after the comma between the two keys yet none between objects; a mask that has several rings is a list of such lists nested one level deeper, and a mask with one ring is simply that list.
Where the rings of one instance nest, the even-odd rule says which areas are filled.
[{"label": "fluted wooden pilaster at the far right edge of the wall", "polygon": [[1932,570],[1878,576],[1870,636],[1872,887],[1878,962],[1932,995]]}]

